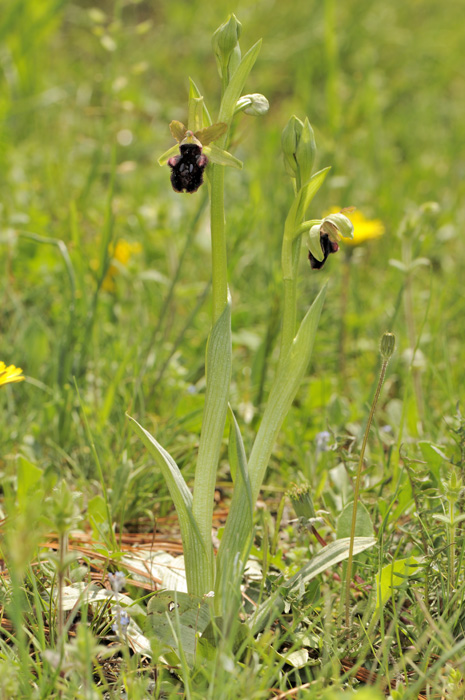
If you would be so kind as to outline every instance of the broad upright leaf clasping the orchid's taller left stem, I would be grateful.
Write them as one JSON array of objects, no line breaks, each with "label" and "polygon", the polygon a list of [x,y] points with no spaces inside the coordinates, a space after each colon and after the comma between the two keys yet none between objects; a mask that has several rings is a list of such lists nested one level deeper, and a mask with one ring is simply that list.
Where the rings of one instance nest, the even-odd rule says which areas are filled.
[{"label": "broad upright leaf clasping the orchid's taller left stem", "polygon": [[201,537],[209,557],[208,586],[202,591],[190,591],[204,595],[213,588],[213,548],[211,528],[216,485],[216,473],[220,458],[223,432],[228,410],[229,384],[231,381],[231,304],[228,303],[212,328],[207,345],[207,391],[202,419],[199,454],[195,469],[193,513],[199,525]]}]

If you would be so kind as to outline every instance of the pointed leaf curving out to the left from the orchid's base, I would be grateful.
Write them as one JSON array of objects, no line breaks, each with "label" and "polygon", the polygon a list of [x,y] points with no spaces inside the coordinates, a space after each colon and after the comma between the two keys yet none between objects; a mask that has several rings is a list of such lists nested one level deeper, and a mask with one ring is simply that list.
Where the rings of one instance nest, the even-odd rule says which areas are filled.
[{"label": "pointed leaf curving out to the left from the orchid's base", "polygon": [[207,582],[211,579],[211,572],[209,572],[211,564],[209,563],[209,555],[204,546],[197,521],[192,513],[192,494],[178,465],[169,452],[134,418],[129,415],[128,418],[134,431],[140,437],[163,474],[170,496],[173,499],[181,527],[189,592],[192,593],[197,590],[205,592],[204,589],[207,586]]}]

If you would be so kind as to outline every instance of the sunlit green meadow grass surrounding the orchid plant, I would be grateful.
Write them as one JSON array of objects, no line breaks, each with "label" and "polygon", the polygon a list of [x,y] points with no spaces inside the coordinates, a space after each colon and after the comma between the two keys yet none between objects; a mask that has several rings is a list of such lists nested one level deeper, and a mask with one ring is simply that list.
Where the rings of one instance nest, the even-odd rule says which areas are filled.
[{"label": "sunlit green meadow grass surrounding the orchid plant", "polygon": [[[192,196],[174,193],[157,158],[172,145],[169,122],[187,119],[189,76],[217,111],[211,35],[230,12],[243,23],[243,50],[263,38],[246,89],[270,101],[265,117],[241,122],[230,150],[244,169],[225,174],[230,401],[247,454],[278,360],[282,230],[293,196],[280,139],[293,113],[308,116],[315,130],[315,169],[332,166],[311,215],[353,205],[386,229],[350,257],[345,250],[330,256],[321,272],[302,255],[300,318],[325,281],[328,293],[311,371],[275,446],[265,505],[255,511],[252,555],[264,575],[246,579],[242,619],[253,612],[248,599],[270,597],[321,550],[305,524],[292,521],[287,498],[281,501],[292,483],[310,484],[323,519],[315,528],[334,539],[352,497],[378,344],[388,330],[397,350],[361,492],[378,546],[356,559],[349,630],[339,564],[290,596],[260,635],[245,624],[226,631],[212,624],[173,675],[167,669],[178,659],[167,658],[156,626],[145,622],[149,590],[131,582],[129,571],[124,592],[140,606],[134,618],[151,640],[151,660],[126,644],[112,652],[105,601],[65,611],[60,659],[53,597],[60,577],[88,581],[93,572],[102,580],[107,570],[126,571],[120,539],[151,532],[154,522],[165,540],[178,534],[176,521],[164,520],[173,508],[162,476],[126,412],[193,485],[211,322],[206,186]],[[4,0],[0,360],[22,367],[27,379],[0,388],[0,697],[116,698],[124,685],[131,700],[149,693],[258,700],[297,688],[282,697],[334,700],[362,687],[359,666],[376,675],[377,691],[366,698],[382,697],[395,679],[396,700],[441,697],[446,689],[447,697],[462,697],[462,15],[459,0],[326,0],[292,9],[121,0],[98,10]],[[427,202],[438,210],[424,211]],[[115,286],[107,289],[109,245],[118,240],[140,250],[114,268]],[[408,268],[419,258],[424,264]],[[319,451],[316,437],[325,430],[332,449]],[[60,479],[75,493],[80,528],[92,536],[79,558],[65,562],[39,546],[60,523],[74,522],[70,504],[53,501]],[[226,440],[218,480],[228,507]],[[396,570],[406,578],[389,584]],[[377,580],[385,586],[381,605]],[[170,633],[182,639],[179,615],[172,617]],[[85,619],[88,625],[77,624]],[[361,691],[357,697],[363,700]]]}]

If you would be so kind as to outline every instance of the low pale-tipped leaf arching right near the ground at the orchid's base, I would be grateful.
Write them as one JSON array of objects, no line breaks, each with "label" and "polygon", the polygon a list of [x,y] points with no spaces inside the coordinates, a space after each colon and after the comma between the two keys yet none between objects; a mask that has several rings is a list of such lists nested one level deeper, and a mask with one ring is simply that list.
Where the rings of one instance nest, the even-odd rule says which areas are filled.
[{"label": "low pale-tipped leaf arching right near the ground at the orchid's base", "polygon": [[[376,539],[374,537],[356,537],[354,540],[354,554],[360,554],[375,544]],[[285,597],[298,595],[302,586],[315,578],[315,576],[347,559],[349,557],[349,546],[350,537],[345,537],[342,540],[331,542],[331,544],[318,552],[308,564],[257,608],[249,623],[252,633],[257,634],[260,632],[271,621],[271,616],[279,615],[284,610]]]}]

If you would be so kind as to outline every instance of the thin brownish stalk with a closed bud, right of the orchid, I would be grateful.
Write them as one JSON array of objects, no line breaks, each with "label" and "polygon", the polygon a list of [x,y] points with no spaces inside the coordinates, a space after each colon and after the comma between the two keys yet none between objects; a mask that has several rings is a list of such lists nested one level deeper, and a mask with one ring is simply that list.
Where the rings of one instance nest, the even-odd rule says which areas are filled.
[{"label": "thin brownish stalk with a closed bud, right of the orchid", "polygon": [[395,337],[392,333],[385,333],[381,340],[381,355],[383,362],[381,365],[381,370],[379,373],[378,384],[376,387],[375,396],[371,404],[370,415],[368,416],[367,426],[365,428],[365,435],[363,436],[362,448],[360,450],[360,457],[358,460],[357,476],[355,478],[355,489],[354,489],[354,507],[352,512],[352,524],[350,528],[350,543],[349,543],[349,557],[347,559],[347,572],[346,572],[346,626],[349,627],[350,618],[350,583],[352,580],[352,568],[354,559],[354,539],[355,539],[355,527],[357,524],[357,504],[360,494],[360,483],[362,480],[362,468],[363,468],[363,458],[365,456],[365,450],[368,442],[368,436],[370,434],[371,424],[373,422],[373,417],[375,415],[376,406],[378,404],[378,399],[381,393],[381,389],[386,377],[386,370],[389,364],[389,360],[394,352],[395,347]]}]

